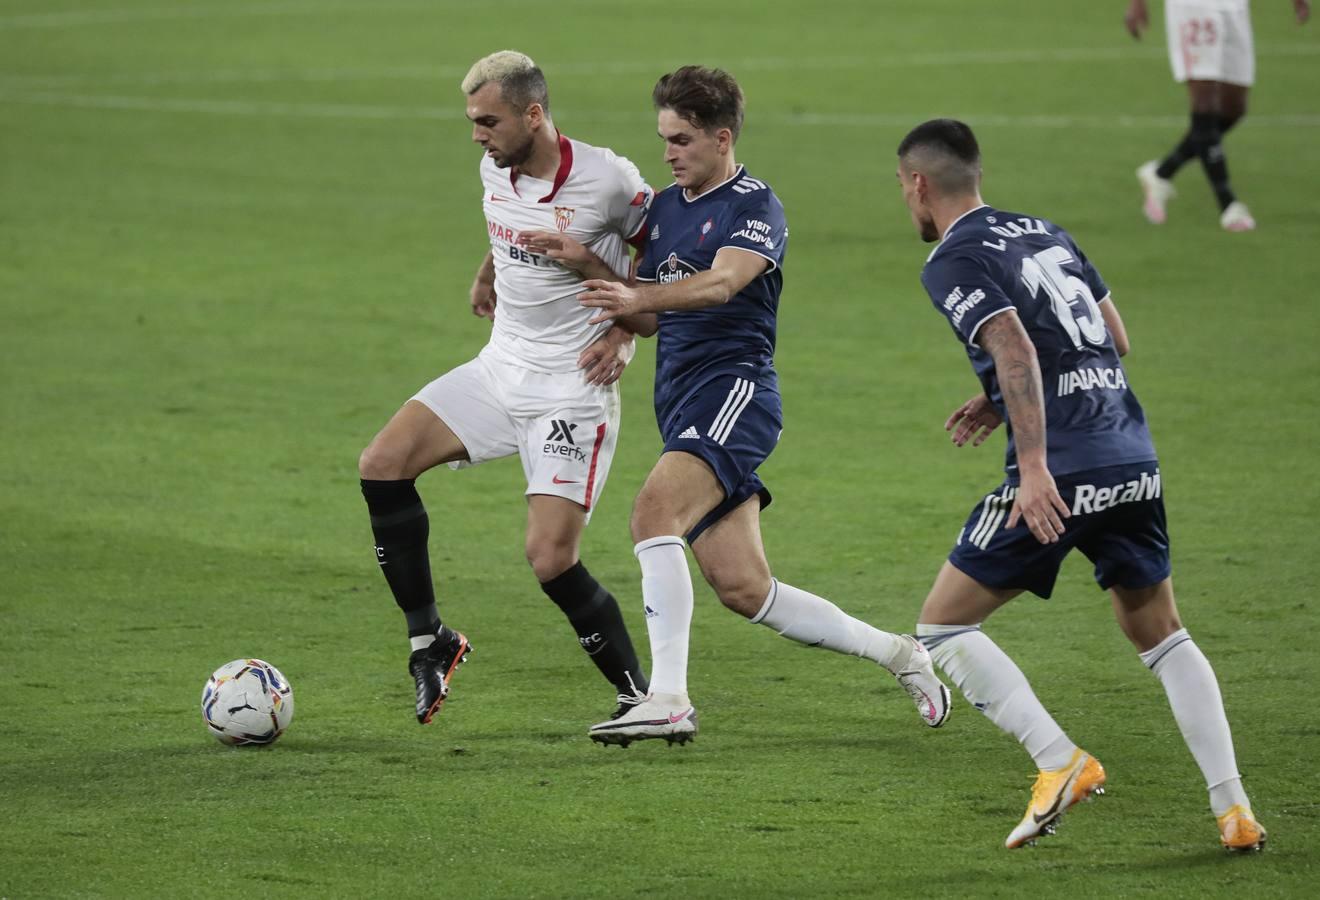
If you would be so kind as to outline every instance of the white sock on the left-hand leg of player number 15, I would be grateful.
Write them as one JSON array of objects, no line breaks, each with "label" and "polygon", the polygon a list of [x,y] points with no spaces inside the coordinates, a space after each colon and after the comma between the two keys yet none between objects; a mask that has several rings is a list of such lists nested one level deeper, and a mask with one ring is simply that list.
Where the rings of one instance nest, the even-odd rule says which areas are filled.
[{"label": "white sock on the left-hand leg of player number 15", "polygon": [[981,626],[919,624],[916,636],[962,695],[1018,739],[1036,768],[1051,772],[1072,761],[1077,744],[1036,699],[1018,664],[981,632]]}]

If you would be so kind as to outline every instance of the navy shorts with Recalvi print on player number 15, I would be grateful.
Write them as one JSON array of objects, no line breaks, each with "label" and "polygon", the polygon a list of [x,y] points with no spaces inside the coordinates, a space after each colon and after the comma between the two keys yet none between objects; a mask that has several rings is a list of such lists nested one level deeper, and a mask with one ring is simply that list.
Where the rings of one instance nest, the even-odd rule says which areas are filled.
[{"label": "navy shorts with Recalvi print on player number 15", "polygon": [[1072,511],[1057,544],[1041,544],[1022,521],[1005,528],[1016,487],[1002,484],[972,511],[949,562],[995,589],[1049,598],[1073,548],[1096,565],[1102,589],[1150,587],[1168,578],[1168,529],[1159,462],[1110,466],[1055,479]]}]

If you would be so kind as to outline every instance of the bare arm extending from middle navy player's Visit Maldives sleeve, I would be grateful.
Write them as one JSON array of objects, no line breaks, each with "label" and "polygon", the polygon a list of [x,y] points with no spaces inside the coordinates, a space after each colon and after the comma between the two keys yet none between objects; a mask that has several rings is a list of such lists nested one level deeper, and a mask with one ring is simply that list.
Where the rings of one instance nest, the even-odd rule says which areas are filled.
[{"label": "bare arm extending from middle navy player's Visit Maldives sleeve", "polygon": [[715,261],[708,271],[665,285],[630,286],[616,281],[587,280],[582,284],[586,290],[578,294],[578,302],[601,310],[591,319],[593,323],[638,313],[721,306],[762,274],[767,265],[770,260],[759,253],[725,247],[715,253]]}]

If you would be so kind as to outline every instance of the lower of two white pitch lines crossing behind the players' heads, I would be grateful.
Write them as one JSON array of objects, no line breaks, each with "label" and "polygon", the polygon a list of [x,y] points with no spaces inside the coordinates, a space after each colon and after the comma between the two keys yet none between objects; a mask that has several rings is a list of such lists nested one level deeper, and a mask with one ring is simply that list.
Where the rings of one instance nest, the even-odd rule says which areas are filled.
[{"label": "lower of two white pitch lines crossing behind the players' heads", "polygon": [[[348,103],[268,103],[261,100],[207,100],[156,96],[106,96],[87,94],[0,92],[0,103],[21,103],[36,106],[59,106],[84,110],[119,110],[128,112],[176,112],[226,116],[273,116],[289,119],[346,119],[378,121],[458,121],[466,119],[458,107],[392,107],[363,106]],[[1185,116],[1014,116],[991,112],[960,115],[957,117],[979,127],[1011,128],[1176,128]],[[804,112],[763,116],[767,125],[805,125],[836,128],[902,128],[928,117],[928,113],[849,113],[849,112]],[[644,111],[569,111],[565,119],[583,123],[638,124],[649,121]],[[1320,113],[1276,113],[1251,116],[1255,128],[1320,128]]]}]

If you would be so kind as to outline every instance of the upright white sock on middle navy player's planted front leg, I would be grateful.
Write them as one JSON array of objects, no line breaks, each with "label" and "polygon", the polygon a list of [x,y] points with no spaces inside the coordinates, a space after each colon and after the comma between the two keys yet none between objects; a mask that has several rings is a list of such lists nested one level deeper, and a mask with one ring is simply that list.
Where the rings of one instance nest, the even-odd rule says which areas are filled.
[{"label": "upright white sock on middle navy player's planted front leg", "polygon": [[652,537],[632,548],[632,553],[642,563],[642,602],[651,637],[651,693],[686,697],[692,573],[682,538]]}]

